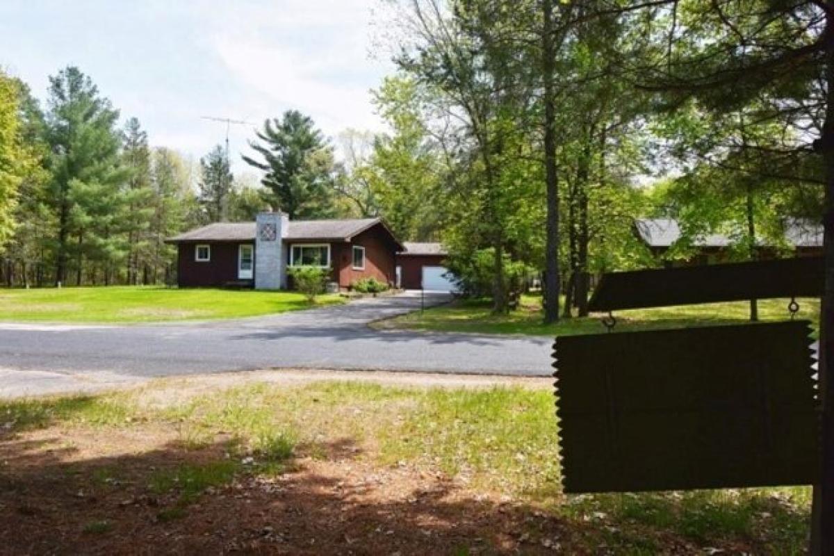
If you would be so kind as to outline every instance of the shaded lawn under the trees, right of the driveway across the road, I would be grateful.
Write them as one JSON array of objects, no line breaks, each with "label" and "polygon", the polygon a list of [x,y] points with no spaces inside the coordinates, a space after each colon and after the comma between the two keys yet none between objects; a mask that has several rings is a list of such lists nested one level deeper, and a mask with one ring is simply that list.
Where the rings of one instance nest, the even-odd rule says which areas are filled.
[{"label": "shaded lawn under the trees, right of the driveway across the road", "polygon": [[[509,315],[490,313],[490,300],[459,300],[448,305],[426,309],[425,313],[409,313],[383,323],[386,327],[432,330],[437,332],[468,332],[490,334],[533,334],[540,336],[569,336],[605,332],[600,324],[601,314],[589,318],[563,319],[560,323],[542,324],[540,296],[524,296],[521,306]],[[788,299],[767,299],[759,302],[759,318],[763,321],[790,318]],[[819,320],[820,303],[817,299],[797,299],[800,311],[796,318]],[[745,323],[750,304],[710,303],[654,309],[616,311],[615,332],[650,330],[656,328],[687,328],[709,324]]]}]

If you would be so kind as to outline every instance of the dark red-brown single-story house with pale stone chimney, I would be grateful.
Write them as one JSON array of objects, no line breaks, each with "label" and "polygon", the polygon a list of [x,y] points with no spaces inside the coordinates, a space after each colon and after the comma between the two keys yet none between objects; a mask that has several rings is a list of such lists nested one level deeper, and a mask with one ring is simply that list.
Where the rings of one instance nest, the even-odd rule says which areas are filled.
[{"label": "dark red-brown single-story house with pale stone chimney", "polygon": [[294,266],[329,268],[339,289],[369,277],[393,286],[394,259],[405,249],[379,218],[290,221],[284,213],[208,224],[167,241],[178,249],[181,287],[288,288]]}]

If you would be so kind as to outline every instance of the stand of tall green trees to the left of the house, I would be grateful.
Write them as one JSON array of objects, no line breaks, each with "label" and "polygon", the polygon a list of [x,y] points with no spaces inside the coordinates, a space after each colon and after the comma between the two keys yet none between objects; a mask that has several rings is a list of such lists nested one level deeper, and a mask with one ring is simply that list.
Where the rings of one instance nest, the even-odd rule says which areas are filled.
[{"label": "stand of tall green trees to the left of the house", "polygon": [[13,82],[27,171],[0,264],[5,282],[171,281],[164,239],[202,221],[189,164],[170,149],[152,152],[136,118],[119,131],[118,111],[78,68],[51,78],[45,114]]}]

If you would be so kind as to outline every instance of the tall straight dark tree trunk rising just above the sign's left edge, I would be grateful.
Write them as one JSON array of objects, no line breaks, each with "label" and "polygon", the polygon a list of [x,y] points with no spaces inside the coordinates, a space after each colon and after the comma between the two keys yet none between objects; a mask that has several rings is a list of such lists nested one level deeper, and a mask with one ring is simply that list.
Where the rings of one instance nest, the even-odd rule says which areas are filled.
[{"label": "tall straight dark tree trunk rising just above the sign's left edge", "polygon": [[553,43],[553,0],[542,2],[541,69],[545,95],[545,182],[547,221],[545,223],[545,323],[559,320],[559,174],[556,167],[556,110],[554,100],[555,48]]}]

